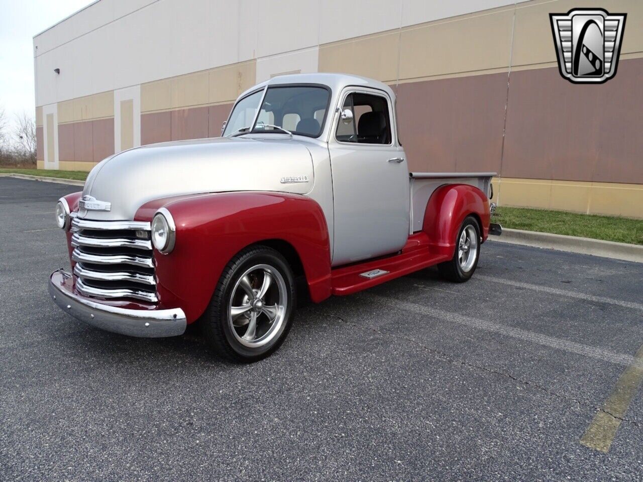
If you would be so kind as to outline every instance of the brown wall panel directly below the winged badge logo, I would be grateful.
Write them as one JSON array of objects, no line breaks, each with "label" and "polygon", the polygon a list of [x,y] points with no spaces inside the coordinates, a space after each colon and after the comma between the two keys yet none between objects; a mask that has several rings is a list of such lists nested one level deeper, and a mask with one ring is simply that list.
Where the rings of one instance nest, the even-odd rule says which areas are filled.
[{"label": "brown wall panel directly below the winged badge logo", "polygon": [[503,177],[643,183],[643,59],[577,85],[557,68],[511,73]]}]

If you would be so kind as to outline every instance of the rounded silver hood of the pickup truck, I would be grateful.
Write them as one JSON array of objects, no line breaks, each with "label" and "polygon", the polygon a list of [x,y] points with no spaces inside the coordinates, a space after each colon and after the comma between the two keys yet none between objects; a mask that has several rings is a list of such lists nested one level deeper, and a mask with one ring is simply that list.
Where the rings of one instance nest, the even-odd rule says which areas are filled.
[{"label": "rounded silver hood of the pickup truck", "polygon": [[[294,139],[217,138],[152,144],[107,157],[91,170],[83,195],[110,202],[109,211],[79,217],[131,220],[145,202],[181,194],[312,189],[311,153]],[[283,177],[308,182],[282,183]],[[285,179],[284,181],[287,181]]]}]

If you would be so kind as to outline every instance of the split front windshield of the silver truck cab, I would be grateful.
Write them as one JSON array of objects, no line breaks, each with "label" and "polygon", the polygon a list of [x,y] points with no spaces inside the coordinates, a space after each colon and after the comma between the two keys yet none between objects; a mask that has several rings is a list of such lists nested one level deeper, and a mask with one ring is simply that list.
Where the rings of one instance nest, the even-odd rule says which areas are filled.
[{"label": "split front windshield of the silver truck cab", "polygon": [[[226,125],[224,136],[248,127],[254,120],[263,91],[251,94],[237,103]],[[269,87],[252,130],[277,132],[288,130],[301,136],[318,137],[323,128],[331,94],[325,87],[287,85]],[[252,98],[252,99],[251,99]],[[276,126],[276,127],[275,127]]]}]

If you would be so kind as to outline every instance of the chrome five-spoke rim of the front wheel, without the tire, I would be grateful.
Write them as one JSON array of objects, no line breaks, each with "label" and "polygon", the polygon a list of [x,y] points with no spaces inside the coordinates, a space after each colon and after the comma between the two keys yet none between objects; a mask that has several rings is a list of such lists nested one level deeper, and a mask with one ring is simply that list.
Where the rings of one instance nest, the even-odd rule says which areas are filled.
[{"label": "chrome five-spoke rim of the front wheel, without the tire", "polygon": [[286,304],[285,281],[275,267],[258,264],[247,269],[230,294],[232,334],[250,348],[269,343],[284,322]]}]

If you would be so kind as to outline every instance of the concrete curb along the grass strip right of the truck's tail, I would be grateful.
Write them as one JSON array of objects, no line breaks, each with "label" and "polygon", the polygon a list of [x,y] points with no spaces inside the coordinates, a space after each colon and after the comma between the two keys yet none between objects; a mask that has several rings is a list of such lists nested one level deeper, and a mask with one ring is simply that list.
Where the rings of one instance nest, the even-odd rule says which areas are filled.
[{"label": "concrete curb along the grass strip right of the truck's tail", "polygon": [[553,235],[521,229],[502,229],[501,236],[490,236],[492,241],[522,244],[525,246],[571,251],[572,253],[593,254],[602,258],[643,263],[643,245],[616,243],[599,239],[579,238],[575,236]]}]

